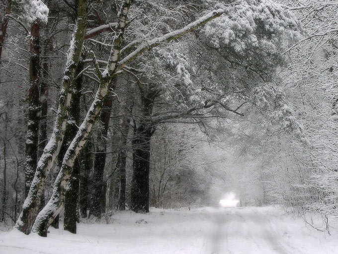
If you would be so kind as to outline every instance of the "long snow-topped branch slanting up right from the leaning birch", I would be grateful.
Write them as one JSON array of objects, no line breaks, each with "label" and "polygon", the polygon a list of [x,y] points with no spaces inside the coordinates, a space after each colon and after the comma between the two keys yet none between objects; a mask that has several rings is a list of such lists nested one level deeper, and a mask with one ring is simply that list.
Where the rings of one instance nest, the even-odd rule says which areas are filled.
[{"label": "long snow-topped branch slanting up right from the leaning birch", "polygon": [[124,59],[122,59],[121,61],[118,62],[118,68],[117,70],[122,69],[124,66],[126,66],[127,64],[129,64],[130,62],[132,62],[135,58],[137,58],[138,56],[140,56],[142,53],[144,53],[147,50],[150,50],[166,41],[170,41],[173,39],[177,39],[201,26],[203,26],[204,24],[206,24],[207,22],[209,22],[210,20],[219,17],[220,15],[222,15],[224,12],[223,9],[217,9],[214,10],[212,12],[209,12],[208,14],[206,14],[205,16],[197,19],[196,21],[186,25],[185,27],[169,32],[163,36],[154,38],[148,42],[145,42],[143,44],[141,44],[140,47],[138,47],[136,50],[134,50],[133,52],[131,52],[129,55],[127,55]]}]

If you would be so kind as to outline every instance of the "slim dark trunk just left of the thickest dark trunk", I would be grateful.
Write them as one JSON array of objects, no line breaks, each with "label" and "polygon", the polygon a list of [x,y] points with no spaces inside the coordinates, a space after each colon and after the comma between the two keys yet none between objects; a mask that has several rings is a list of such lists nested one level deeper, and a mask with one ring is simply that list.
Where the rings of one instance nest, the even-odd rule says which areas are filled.
[{"label": "slim dark trunk just left of the thickest dark trunk", "polygon": [[128,141],[128,132],[129,132],[129,122],[130,122],[130,114],[132,111],[133,103],[132,100],[128,100],[127,98],[124,109],[123,115],[121,120],[121,148],[119,154],[119,161],[118,161],[118,170],[119,170],[119,197],[117,202],[117,209],[120,211],[124,211],[126,209],[126,159],[127,159],[127,141]]}]

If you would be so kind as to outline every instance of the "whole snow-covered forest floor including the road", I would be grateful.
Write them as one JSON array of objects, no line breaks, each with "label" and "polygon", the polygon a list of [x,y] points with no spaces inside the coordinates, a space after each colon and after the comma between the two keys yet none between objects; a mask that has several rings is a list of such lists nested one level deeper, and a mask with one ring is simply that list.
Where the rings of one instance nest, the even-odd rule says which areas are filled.
[{"label": "whole snow-covered forest floor including the road", "polygon": [[0,232],[0,254],[337,254],[338,223],[330,223],[330,236],[319,217],[307,220],[318,230],[273,207],[153,208],[84,221],[76,235]]}]

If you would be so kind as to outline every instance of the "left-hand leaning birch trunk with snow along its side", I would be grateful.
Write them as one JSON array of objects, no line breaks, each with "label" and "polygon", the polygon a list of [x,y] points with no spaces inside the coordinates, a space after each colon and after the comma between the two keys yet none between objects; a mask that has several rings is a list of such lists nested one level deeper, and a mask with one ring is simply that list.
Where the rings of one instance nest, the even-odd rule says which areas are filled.
[{"label": "left-hand leaning birch trunk with snow along its side", "polygon": [[21,214],[15,225],[15,228],[27,235],[31,232],[34,221],[38,215],[41,195],[46,184],[46,179],[49,176],[54,161],[59,154],[64,138],[68,120],[68,110],[73,96],[72,84],[73,80],[76,78],[76,70],[82,54],[87,23],[87,5],[88,0],[79,0],[79,17],[68,51],[63,87],[60,91],[57,119],[54,124],[52,136],[40,157],[28,196],[23,204]]}]

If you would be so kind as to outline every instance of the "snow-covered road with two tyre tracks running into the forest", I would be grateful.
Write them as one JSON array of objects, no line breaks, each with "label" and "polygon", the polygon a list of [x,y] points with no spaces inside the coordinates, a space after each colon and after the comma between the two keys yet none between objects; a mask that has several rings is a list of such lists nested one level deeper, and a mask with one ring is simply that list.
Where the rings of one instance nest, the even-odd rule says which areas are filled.
[{"label": "snow-covered road with two tyre tracks running into the forest", "polygon": [[[210,254],[302,254],[287,246],[268,218],[255,209],[230,208],[215,214]],[[290,252],[291,249],[291,252]]]}]

